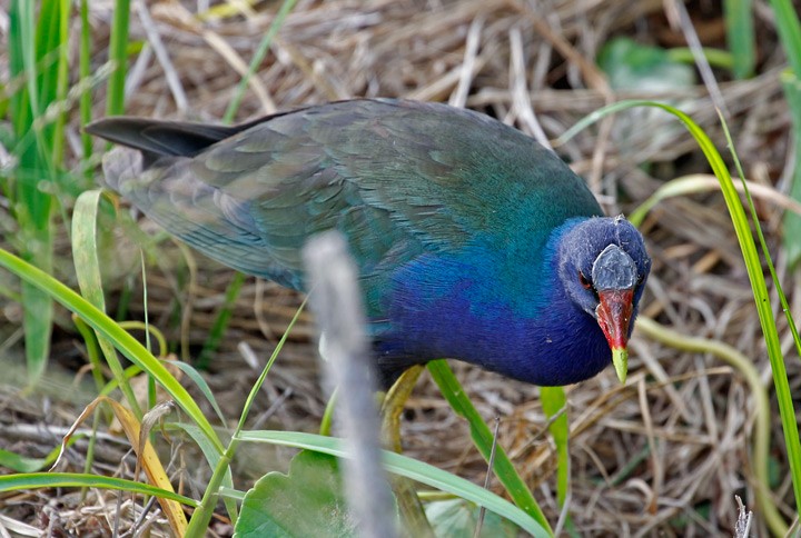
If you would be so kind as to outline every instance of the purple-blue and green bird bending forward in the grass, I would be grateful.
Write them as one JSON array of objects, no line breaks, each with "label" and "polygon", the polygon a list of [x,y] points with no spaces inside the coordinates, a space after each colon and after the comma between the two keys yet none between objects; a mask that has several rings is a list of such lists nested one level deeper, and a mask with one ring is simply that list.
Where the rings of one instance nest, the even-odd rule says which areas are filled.
[{"label": "purple-blue and green bird bending forward in the grass", "polygon": [[304,242],[344,233],[388,377],[453,358],[543,386],[613,361],[625,379],[643,239],[500,121],[358,99],[236,127],[115,117],[87,131],[142,157],[107,167],[110,188],[246,273],[304,290]]}]

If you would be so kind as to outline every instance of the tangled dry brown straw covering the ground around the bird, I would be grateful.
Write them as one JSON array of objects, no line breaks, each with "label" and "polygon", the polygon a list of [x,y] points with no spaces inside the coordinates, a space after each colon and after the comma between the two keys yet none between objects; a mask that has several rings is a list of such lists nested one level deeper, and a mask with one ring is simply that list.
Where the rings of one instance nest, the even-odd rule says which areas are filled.
[{"label": "tangled dry brown straw covering the ground around the bird", "polygon": [[[131,34],[144,40],[145,47],[131,66],[129,113],[208,121],[222,117],[278,3],[247,7],[243,2],[238,13],[234,2],[217,4],[212,14],[198,19],[194,10],[202,3],[150,1],[146,9],[134,10]],[[691,2],[688,9],[703,44],[724,47],[716,3]],[[722,150],[725,140],[715,112],[715,104],[722,102],[746,176],[765,187],[758,210],[797,312],[799,281],[787,270],[780,249],[783,209],[777,195],[784,187],[790,128],[778,80],[784,60],[767,2],[754,3],[758,74],[732,81],[726,71],[715,71],[722,101],[713,101],[702,84],[669,92],[613,91],[594,63],[600,47],[615,36],[682,46],[686,28],[676,22],[671,1],[301,0],[250,80],[238,118],[350,97],[400,96],[466,106],[525,132],[555,139],[605,103],[647,98],[676,103]],[[108,47],[111,2],[96,0],[90,7],[99,68]],[[103,109],[98,90],[96,117]],[[76,133],[77,119],[73,129]],[[666,180],[709,173],[691,137],[674,120],[652,113],[603,121],[557,150],[587,178],[610,213],[631,211]],[[148,229],[149,225],[142,226]],[[654,259],[642,316],[683,335],[734,346],[753,361],[770,387],[759,320],[720,193],[706,190],[661,202],[642,231]],[[120,239],[119,248],[118,275],[137,275],[137,250],[126,239]],[[159,263],[148,277],[150,322],[182,342],[191,356],[225,300],[231,275],[169,241],[158,248]],[[66,246],[62,253],[69,260]],[[141,297],[139,287],[134,298]],[[207,376],[227,416],[238,416],[259,371],[244,360],[243,348],[263,365],[298,303],[297,296],[273,283],[247,280]],[[139,301],[131,305],[132,316],[141,316]],[[781,327],[784,350],[791,350],[785,323]],[[53,357],[73,368],[80,360],[80,345],[75,335],[59,331],[57,337]],[[304,317],[258,402],[259,412],[254,416],[260,427],[316,429],[325,402],[317,388],[312,341],[313,326]],[[789,359],[788,369],[791,388],[798,390],[799,361]],[[537,388],[474,368],[458,367],[457,372],[482,414],[487,419],[501,417],[500,442],[541,499],[548,519],[555,521],[560,512],[555,457],[543,432],[546,419]],[[61,399],[50,395],[47,400],[52,406],[44,409],[42,395],[3,402],[0,422],[4,437],[17,439],[9,444],[12,448],[28,444],[36,454],[58,438],[56,430],[51,438],[26,438],[20,422],[38,425],[41,432],[42,425],[68,425],[75,417],[75,408]],[[432,382],[421,382],[407,409],[403,425],[407,455],[483,480],[485,464],[472,448],[465,424]],[[571,515],[582,535],[730,535],[736,521],[734,496],[755,508],[752,395],[739,371],[716,358],[683,352],[635,331],[626,386],[621,387],[607,369],[570,387],[567,414]],[[774,500],[791,519],[792,491],[778,411],[773,410],[773,417]],[[9,437],[12,428],[19,430],[17,437]],[[99,455],[99,466],[119,462],[116,445],[107,444],[105,449],[110,454],[108,459]],[[72,456],[79,458],[79,452]],[[240,459],[239,471],[257,476],[276,468],[275,461],[285,461],[288,454],[247,456]],[[46,501],[30,499],[31,506]]]}]

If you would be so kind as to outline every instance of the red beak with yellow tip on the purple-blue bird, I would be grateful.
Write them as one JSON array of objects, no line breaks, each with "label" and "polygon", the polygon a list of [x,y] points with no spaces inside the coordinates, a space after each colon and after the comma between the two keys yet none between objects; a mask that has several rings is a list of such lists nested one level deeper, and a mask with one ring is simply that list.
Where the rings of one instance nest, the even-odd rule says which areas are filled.
[{"label": "red beak with yellow tip on the purple-blue bird", "polygon": [[607,289],[599,291],[600,303],[595,309],[599,326],[612,349],[612,361],[621,382],[625,381],[629,352],[629,326],[632,319],[632,289]]}]

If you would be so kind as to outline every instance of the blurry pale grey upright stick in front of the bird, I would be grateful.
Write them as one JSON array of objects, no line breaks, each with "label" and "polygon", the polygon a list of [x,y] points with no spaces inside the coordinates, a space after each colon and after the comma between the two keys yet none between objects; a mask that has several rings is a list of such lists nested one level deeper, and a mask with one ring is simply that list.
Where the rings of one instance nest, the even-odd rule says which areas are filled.
[{"label": "blurry pale grey upright stick in front of the bird", "polygon": [[329,385],[339,387],[335,426],[345,439],[345,487],[364,537],[395,537],[395,510],[380,466],[376,381],[365,336],[356,266],[338,232],[313,237],[304,248],[309,303],[320,329]]}]

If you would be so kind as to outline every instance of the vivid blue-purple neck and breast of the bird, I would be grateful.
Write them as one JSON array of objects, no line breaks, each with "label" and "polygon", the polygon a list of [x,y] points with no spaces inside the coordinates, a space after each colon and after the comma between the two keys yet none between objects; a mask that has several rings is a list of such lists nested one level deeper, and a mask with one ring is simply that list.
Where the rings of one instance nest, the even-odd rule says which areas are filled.
[{"label": "vivid blue-purple neck and breast of the bird", "polygon": [[612,356],[597,322],[560,281],[554,257],[565,229],[525,262],[465,251],[406,266],[395,280],[393,330],[380,336],[382,350],[455,358],[535,385],[594,376]]}]

